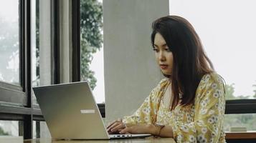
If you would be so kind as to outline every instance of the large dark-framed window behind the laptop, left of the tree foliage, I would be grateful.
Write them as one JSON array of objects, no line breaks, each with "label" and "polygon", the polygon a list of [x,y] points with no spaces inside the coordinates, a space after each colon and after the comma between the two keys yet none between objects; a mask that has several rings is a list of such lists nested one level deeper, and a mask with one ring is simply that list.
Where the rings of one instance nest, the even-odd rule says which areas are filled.
[{"label": "large dark-framed window behind the laptop, left of the tree foliage", "polygon": [[[79,6],[80,2],[11,0],[0,4],[0,16],[5,16],[5,21],[0,19],[0,24],[10,27],[0,27],[1,31],[6,30],[4,33],[0,31],[0,50],[4,53],[0,56],[6,57],[1,57],[5,61],[1,63],[4,66],[0,66],[0,134],[13,134],[9,126],[15,128],[15,134],[24,136],[24,139],[49,137],[32,87],[80,80],[80,46],[77,46],[80,45],[80,33],[75,28],[80,29],[79,19],[76,19],[80,9],[76,9],[76,4]],[[13,12],[17,16],[11,18],[17,17],[18,25],[11,27],[16,21],[12,19],[13,23],[10,24],[7,18]],[[17,37],[16,43],[13,39],[7,42],[10,34]],[[11,79],[8,74],[16,77]]]}]

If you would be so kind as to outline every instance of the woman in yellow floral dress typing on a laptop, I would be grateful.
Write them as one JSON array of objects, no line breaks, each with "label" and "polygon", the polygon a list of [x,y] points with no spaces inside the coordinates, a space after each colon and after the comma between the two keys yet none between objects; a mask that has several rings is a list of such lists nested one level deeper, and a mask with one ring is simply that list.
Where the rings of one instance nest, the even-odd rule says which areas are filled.
[{"label": "woman in yellow floral dress typing on a laptop", "polygon": [[153,21],[152,28],[153,51],[166,78],[133,115],[112,122],[108,132],[225,142],[224,83],[193,26],[180,16],[165,16]]}]

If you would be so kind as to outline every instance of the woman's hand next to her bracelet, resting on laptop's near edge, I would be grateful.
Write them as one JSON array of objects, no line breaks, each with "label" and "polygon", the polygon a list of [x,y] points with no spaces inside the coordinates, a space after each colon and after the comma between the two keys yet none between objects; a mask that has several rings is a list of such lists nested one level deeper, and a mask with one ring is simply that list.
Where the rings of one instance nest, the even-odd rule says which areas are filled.
[{"label": "woman's hand next to her bracelet, resting on laptop's near edge", "polygon": [[120,134],[153,134],[156,127],[153,124],[134,124],[126,126],[120,131]]}]

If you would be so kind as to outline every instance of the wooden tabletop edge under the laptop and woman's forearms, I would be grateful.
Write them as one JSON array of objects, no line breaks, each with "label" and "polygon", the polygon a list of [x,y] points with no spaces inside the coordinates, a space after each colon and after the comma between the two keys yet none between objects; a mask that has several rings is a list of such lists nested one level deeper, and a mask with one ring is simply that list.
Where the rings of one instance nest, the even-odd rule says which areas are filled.
[{"label": "wooden tabletop edge under the laptop and woman's forearms", "polygon": [[[146,137],[145,139],[112,139],[112,140],[52,140],[52,139],[27,139],[24,143],[175,143],[172,138],[154,138]],[[14,142],[15,143],[15,142]]]}]

